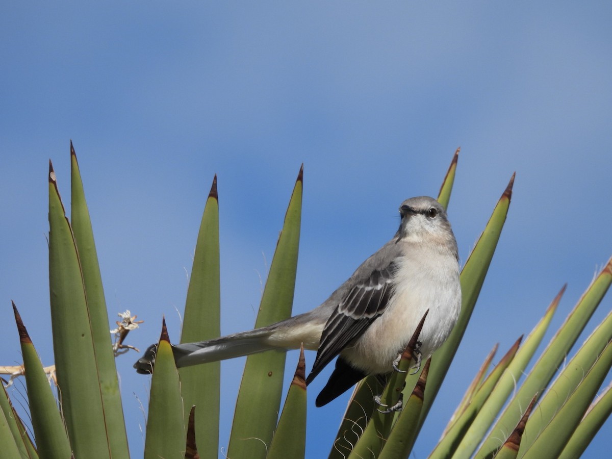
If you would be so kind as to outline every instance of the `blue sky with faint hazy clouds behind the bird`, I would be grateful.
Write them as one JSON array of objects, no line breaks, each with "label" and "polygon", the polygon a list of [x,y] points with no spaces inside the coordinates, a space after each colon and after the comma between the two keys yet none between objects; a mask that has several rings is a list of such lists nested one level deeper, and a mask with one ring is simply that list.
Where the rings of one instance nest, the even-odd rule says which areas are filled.
[{"label": "blue sky with faint hazy clouds behind the bird", "polygon": [[[426,457],[494,343],[502,354],[527,334],[567,282],[559,326],[612,255],[611,20],[603,1],[7,4],[0,365],[20,361],[11,299],[43,363],[53,362],[47,168],[51,158],[67,200],[70,139],[110,323],[125,309],[144,319],[130,335],[140,348],[159,337],[162,314],[178,340],[215,173],[230,333],[255,322],[302,162],[296,313],[394,234],[401,201],[438,193],[460,146],[449,218],[462,261],[514,171],[517,179],[453,384],[442,387],[413,456]],[[589,330],[611,305],[608,296]],[[136,357],[119,358],[118,370],[140,457],[149,383],[133,371]],[[296,360],[290,353],[289,371]],[[222,445],[243,365],[222,366]],[[346,404],[314,407],[327,374],[310,386],[308,457],[329,450]],[[15,390],[20,397],[23,384]],[[609,451],[611,435],[608,421],[586,457]]]}]

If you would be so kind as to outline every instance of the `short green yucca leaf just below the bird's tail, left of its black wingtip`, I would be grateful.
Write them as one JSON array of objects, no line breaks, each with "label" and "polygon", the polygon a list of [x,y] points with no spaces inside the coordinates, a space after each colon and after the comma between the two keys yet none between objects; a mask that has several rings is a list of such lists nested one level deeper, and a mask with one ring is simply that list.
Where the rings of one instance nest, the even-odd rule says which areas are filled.
[{"label": "short green yucca leaf just below the bird's tail, left of its black wingtip", "polygon": [[300,349],[296,373],[266,459],[303,458],[306,450],[306,360]]}]

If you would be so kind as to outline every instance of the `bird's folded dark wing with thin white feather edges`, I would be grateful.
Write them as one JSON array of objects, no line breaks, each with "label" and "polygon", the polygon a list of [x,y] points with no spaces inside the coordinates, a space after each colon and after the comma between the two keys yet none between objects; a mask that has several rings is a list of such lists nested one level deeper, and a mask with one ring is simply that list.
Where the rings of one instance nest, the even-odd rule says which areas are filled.
[{"label": "bird's folded dark wing with thin white feather edges", "polygon": [[396,264],[391,261],[384,267],[374,269],[346,291],[323,329],[307,383],[384,312],[391,294],[395,267]]}]

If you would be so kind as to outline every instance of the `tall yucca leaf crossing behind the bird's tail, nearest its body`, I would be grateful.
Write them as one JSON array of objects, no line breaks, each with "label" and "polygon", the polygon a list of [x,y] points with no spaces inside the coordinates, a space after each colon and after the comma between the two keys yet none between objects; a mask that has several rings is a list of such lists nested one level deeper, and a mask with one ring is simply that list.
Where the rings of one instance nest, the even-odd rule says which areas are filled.
[{"label": "tall yucca leaf crossing behind the bird's tail, nearest its body", "polygon": [[[302,174],[303,167],[297,176],[283,230],[278,237],[255,328],[291,316],[302,214]],[[267,445],[278,420],[285,358],[285,353],[276,352],[247,357],[236,401],[228,457],[266,457]]]}]

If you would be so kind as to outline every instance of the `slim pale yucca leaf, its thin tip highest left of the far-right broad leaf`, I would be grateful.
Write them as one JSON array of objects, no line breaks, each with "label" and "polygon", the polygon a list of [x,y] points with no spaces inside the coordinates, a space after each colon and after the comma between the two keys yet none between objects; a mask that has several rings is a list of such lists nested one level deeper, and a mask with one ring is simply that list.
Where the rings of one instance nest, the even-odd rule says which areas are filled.
[{"label": "slim pale yucca leaf, its thin tip highest left of the far-right broad leaf", "polygon": [[564,285],[557,296],[554,297],[543,318],[536,324],[534,329],[531,330],[523,346],[518,351],[517,356],[513,359],[509,368],[504,371],[499,383],[494,387],[491,397],[485,401],[484,405],[481,407],[482,409],[475,413],[476,419],[473,420],[472,424],[465,432],[463,439],[461,439],[458,444],[455,457],[468,457],[476,450],[483,436],[485,436],[487,430],[491,427],[491,424],[493,424],[499,410],[504,406],[504,403],[506,403],[507,398],[512,394],[513,390],[516,390],[517,381],[523,375],[525,368],[542,342],[542,338],[548,330],[548,326],[550,326],[550,322],[565,292],[565,288],[566,286]]}]

